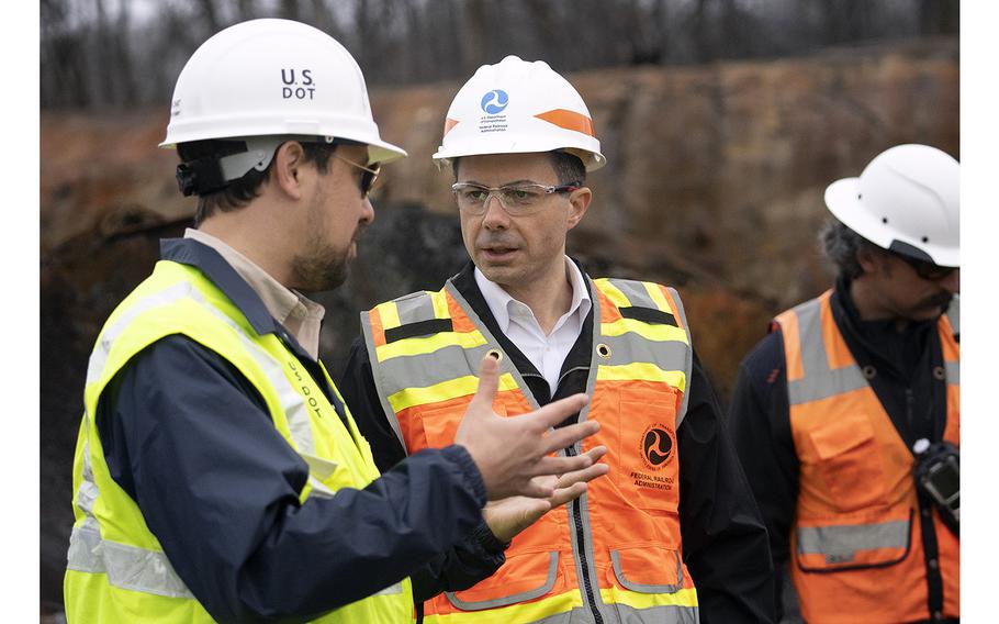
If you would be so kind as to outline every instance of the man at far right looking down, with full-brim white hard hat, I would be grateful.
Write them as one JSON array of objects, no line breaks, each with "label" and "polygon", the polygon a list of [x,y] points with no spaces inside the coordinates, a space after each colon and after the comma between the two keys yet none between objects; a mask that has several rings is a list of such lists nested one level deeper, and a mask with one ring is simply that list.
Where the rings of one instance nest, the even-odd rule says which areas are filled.
[{"label": "man at far right looking down, with full-brim white hard hat", "polygon": [[898,145],[830,185],[835,285],[742,363],[729,423],[807,622],[959,617],[959,178]]}]

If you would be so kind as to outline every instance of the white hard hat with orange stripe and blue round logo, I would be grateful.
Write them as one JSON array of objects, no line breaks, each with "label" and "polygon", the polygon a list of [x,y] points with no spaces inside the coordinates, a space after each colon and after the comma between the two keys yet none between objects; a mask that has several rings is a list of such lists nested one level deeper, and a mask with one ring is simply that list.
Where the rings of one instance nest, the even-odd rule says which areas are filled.
[{"label": "white hard hat with orange stripe and blue round logo", "polygon": [[480,67],[459,89],[434,159],[554,149],[579,156],[588,171],[606,164],[590,109],[572,85],[543,60],[507,56]]}]

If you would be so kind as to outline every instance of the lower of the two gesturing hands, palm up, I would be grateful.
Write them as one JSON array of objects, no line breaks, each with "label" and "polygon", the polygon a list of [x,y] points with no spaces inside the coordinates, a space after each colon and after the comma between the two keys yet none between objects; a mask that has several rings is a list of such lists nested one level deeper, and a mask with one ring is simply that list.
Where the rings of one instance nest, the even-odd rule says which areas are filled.
[{"label": "lower of the two gesturing hands, palm up", "polygon": [[607,453],[606,446],[597,446],[588,452],[593,466],[555,477],[536,477],[553,483],[554,494],[548,499],[530,499],[527,497],[510,497],[500,501],[486,503],[482,515],[490,525],[493,535],[501,542],[509,542],[518,533],[537,522],[549,511],[559,508],[569,501],[575,500],[586,491],[586,483],[606,475],[610,467],[596,461]]}]

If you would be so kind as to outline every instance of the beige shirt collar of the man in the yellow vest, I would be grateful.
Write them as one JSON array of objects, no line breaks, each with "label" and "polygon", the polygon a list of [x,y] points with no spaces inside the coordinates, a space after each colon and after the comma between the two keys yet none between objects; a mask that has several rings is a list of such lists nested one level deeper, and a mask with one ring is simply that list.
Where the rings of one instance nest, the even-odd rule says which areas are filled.
[{"label": "beige shirt collar of the man in the yellow vest", "polygon": [[326,309],[301,292],[284,288],[267,271],[231,246],[201,230],[188,227],[184,238],[193,238],[218,252],[263,302],[276,321],[284,325],[313,359],[319,358],[319,328]]}]

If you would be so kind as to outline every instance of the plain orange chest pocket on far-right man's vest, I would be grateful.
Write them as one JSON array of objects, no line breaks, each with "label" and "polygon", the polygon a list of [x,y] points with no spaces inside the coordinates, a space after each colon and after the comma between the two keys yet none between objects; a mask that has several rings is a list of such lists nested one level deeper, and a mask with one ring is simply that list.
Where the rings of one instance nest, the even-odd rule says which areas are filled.
[{"label": "plain orange chest pocket on far-right man's vest", "polygon": [[823,422],[808,436],[819,473],[840,511],[869,509],[887,501],[882,454],[866,414]]}]

